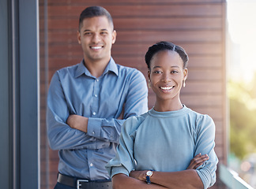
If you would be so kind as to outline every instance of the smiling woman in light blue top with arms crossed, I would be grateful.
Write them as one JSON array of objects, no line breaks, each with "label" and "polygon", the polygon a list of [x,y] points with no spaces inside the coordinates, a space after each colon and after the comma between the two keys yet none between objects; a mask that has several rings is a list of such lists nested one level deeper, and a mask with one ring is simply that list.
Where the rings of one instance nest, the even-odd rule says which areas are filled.
[{"label": "smiling woman in light blue top with arms crossed", "polygon": [[[212,186],[218,162],[213,150],[215,125],[211,117],[187,108],[179,98],[188,75],[185,50],[173,43],[156,43],[149,47],[145,62],[155,106],[123,124],[117,154],[106,165],[113,187]],[[205,158],[200,154],[208,154],[209,159],[200,166],[191,165],[194,157]]]}]

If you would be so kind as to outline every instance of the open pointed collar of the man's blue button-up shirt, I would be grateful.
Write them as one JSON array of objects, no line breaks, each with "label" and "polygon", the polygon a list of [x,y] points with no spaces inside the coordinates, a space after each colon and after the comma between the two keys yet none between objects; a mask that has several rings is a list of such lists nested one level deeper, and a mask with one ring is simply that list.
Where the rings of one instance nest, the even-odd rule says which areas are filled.
[{"label": "open pointed collar of the man's blue button-up shirt", "polygon": [[[106,69],[104,70],[103,76],[107,74],[107,72],[114,72],[116,76],[119,76],[119,70],[117,68],[117,65],[115,64],[114,59],[111,57],[111,60],[108,62]],[[80,62],[80,64],[77,67],[75,77],[81,76],[84,74],[86,76],[92,76],[92,74],[88,71],[88,69],[85,67],[84,60]]]}]

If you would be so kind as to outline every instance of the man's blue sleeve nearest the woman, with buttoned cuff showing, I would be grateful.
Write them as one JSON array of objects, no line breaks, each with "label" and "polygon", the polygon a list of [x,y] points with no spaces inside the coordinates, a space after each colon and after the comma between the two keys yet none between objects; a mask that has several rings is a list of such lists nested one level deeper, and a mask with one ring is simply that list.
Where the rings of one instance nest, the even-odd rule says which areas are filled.
[{"label": "man's blue sleeve nearest the woman, with buttoned cuff showing", "polygon": [[148,87],[143,74],[136,70],[130,76],[122,120],[89,117],[87,134],[111,143],[119,143],[123,122],[148,111]]}]

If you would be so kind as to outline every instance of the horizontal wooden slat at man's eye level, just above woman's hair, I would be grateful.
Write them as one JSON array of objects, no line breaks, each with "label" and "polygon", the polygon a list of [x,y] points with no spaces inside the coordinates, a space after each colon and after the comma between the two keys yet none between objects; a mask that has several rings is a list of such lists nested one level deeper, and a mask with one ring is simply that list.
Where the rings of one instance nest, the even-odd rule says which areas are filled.
[{"label": "horizontal wooden slat at man's eye level, just above woman's hair", "polygon": [[[77,43],[76,30],[53,31],[49,43]],[[209,37],[211,36],[211,37]],[[223,39],[220,30],[211,31],[118,31],[116,43],[155,43],[172,41],[176,43],[220,43]]]}]

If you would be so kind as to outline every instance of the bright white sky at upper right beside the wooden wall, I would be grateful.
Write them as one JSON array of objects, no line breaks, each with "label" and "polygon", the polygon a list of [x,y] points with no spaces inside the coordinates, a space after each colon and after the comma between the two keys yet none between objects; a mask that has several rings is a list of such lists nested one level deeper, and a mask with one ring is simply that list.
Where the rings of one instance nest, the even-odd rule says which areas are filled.
[{"label": "bright white sky at upper right beside the wooden wall", "polygon": [[256,72],[256,0],[227,0],[228,31],[239,45],[239,74],[251,80]]}]

